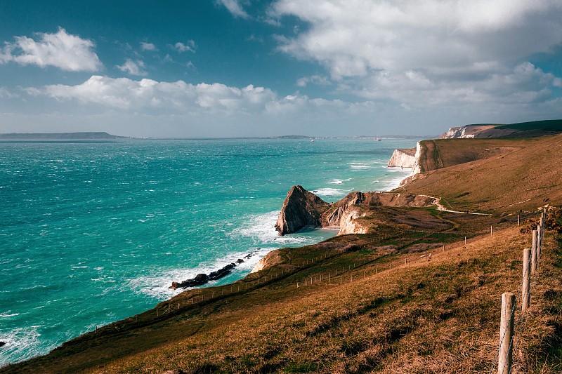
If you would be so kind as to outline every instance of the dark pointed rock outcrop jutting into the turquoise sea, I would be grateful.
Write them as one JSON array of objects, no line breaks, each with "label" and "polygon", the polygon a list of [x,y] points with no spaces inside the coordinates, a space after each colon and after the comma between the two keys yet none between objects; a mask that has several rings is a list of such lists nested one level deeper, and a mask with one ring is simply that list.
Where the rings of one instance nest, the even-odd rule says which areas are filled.
[{"label": "dark pointed rock outcrop jutting into the turquoise sea", "polygon": [[322,213],[329,206],[329,203],[306,191],[302,186],[293,186],[283,202],[275,229],[283,236],[297,232],[303,227],[320,227]]}]

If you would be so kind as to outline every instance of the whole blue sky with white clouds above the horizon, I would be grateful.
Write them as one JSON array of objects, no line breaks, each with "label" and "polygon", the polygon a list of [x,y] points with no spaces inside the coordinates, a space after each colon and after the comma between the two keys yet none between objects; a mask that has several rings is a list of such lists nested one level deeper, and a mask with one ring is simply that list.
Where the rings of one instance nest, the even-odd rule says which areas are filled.
[{"label": "whole blue sky with white clouds above the horizon", "polygon": [[560,118],[560,0],[0,0],[0,133],[438,135]]}]

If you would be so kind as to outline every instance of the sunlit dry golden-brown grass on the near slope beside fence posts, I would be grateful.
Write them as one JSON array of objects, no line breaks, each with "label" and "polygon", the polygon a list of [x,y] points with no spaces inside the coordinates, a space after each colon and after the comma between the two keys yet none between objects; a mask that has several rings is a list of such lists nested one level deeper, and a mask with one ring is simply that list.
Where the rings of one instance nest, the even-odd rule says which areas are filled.
[{"label": "sunlit dry golden-brown grass on the near slope beside fence posts", "polygon": [[[562,323],[560,253],[553,239],[547,236],[514,373],[556,372],[555,364],[544,362],[555,326]],[[360,272],[367,276],[341,286],[303,288],[298,298],[254,307],[229,323],[92,372],[489,372],[497,350],[500,295],[518,289],[521,248],[529,239],[514,227],[463,244],[433,254],[431,261],[404,255],[412,260],[411,269],[395,265],[377,274],[375,265],[358,269],[358,278]],[[556,307],[558,315],[552,315]]]}]

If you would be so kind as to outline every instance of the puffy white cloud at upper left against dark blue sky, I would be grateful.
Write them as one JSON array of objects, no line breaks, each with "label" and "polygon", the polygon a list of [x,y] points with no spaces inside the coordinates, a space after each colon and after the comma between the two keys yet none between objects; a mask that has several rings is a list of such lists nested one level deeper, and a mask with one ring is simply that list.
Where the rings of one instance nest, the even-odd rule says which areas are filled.
[{"label": "puffy white cloud at upper left against dark blue sky", "polygon": [[70,72],[96,72],[102,67],[94,44],[88,39],[67,34],[60,27],[54,34],[38,33],[39,40],[15,36],[6,42],[0,52],[0,63],[17,62],[20,65],[53,66]]}]

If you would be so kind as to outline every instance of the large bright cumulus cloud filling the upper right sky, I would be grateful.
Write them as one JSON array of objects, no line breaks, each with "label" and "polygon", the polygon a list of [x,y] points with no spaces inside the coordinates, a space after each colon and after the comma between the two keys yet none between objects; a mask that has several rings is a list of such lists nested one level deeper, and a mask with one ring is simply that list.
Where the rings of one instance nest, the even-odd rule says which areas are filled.
[{"label": "large bright cumulus cloud filling the upper right sky", "polygon": [[424,106],[518,90],[509,100],[546,100],[560,82],[525,62],[562,43],[558,1],[277,0],[271,15],[310,26],[278,36],[280,51],[319,62],[340,91],[364,98]]}]

